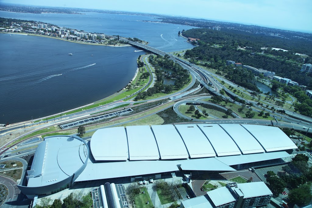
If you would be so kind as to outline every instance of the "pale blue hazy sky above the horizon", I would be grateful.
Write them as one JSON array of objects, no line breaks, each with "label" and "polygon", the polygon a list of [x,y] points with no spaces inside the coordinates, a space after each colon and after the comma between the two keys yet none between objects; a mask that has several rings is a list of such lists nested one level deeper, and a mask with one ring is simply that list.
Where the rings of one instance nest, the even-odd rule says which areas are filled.
[{"label": "pale blue hazy sky above the horizon", "polygon": [[312,0],[0,0],[40,6],[196,17],[312,32]]}]

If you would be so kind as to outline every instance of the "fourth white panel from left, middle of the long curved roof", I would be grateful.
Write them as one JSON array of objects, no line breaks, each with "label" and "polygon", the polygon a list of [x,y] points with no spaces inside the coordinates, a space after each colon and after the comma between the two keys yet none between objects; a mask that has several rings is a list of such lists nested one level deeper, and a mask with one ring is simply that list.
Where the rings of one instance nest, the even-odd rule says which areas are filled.
[{"label": "fourth white panel from left, middle of the long curved roof", "polygon": [[191,158],[215,157],[211,144],[195,124],[175,125],[180,133]]}]

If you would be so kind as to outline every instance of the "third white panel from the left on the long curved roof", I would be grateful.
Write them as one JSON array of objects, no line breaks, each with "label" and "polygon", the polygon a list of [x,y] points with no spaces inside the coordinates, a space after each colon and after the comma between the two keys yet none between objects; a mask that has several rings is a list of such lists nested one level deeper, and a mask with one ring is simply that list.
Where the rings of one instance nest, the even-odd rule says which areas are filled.
[{"label": "third white panel from the left on the long curved roof", "polygon": [[161,159],[188,158],[188,151],[173,125],[153,125],[151,127],[156,138]]}]

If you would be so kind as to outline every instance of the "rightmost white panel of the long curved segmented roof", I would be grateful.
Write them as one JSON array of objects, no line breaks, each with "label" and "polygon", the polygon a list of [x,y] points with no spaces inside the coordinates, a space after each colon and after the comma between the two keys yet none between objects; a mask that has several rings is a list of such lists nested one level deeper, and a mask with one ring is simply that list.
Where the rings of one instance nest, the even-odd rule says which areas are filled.
[{"label": "rightmost white panel of the long curved segmented roof", "polygon": [[262,145],[266,152],[296,149],[297,146],[278,127],[242,124]]}]

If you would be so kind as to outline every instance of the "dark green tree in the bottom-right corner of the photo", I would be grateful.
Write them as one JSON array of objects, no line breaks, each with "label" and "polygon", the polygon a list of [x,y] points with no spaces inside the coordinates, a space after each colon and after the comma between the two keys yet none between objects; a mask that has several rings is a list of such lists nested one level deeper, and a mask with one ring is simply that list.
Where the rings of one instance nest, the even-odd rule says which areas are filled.
[{"label": "dark green tree in the bottom-right corner of the photo", "polygon": [[288,195],[289,202],[298,206],[308,204],[311,198],[311,189],[308,184],[300,185],[298,188],[291,190]]}]

